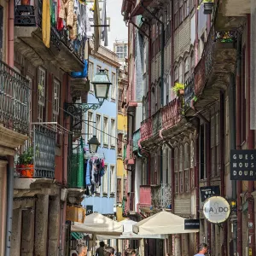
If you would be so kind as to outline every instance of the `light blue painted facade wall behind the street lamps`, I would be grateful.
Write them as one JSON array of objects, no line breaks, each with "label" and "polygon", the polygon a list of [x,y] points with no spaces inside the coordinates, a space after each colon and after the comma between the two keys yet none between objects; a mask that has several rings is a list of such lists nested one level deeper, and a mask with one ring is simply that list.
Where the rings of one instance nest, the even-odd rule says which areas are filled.
[{"label": "light blue painted facade wall behind the street lamps", "polygon": [[[101,67],[102,69],[107,69],[108,70],[108,78],[110,81],[112,81],[112,74],[116,74],[116,83],[117,84],[117,77],[118,77],[118,70],[116,67],[108,65],[106,61],[101,61],[96,59],[93,56],[89,57],[89,61],[93,64],[90,67],[93,67],[93,72],[91,73],[92,78],[97,72],[97,68]],[[90,71],[89,71],[90,72]],[[108,100],[105,100],[102,104],[101,108],[96,109],[95,111],[92,111],[91,113],[93,114],[93,122],[90,122],[89,125],[92,125],[96,127],[96,115],[101,116],[101,130],[103,131],[103,120],[104,117],[108,118],[108,134],[111,134],[111,119],[115,120],[115,132],[114,132],[114,137],[117,137],[117,132],[116,132],[116,127],[117,127],[117,101],[118,101],[118,96],[117,96],[117,91],[118,89],[116,88],[116,94],[115,94],[115,100],[111,98],[112,96],[112,90],[113,90],[113,85],[110,86],[109,92],[108,92]],[[88,103],[97,103],[97,99],[94,96],[93,91],[90,90],[88,94]],[[87,121],[88,120],[88,113],[84,113],[84,119]],[[85,125],[85,143],[88,142],[90,137],[92,135],[96,135],[96,129],[92,128],[92,135],[91,134],[86,134],[88,133],[88,125]],[[98,195],[93,195],[90,197],[85,197],[84,201],[82,202],[82,205],[84,207],[86,206],[93,206],[93,211],[94,212],[99,212],[102,214],[113,214],[113,207],[116,202],[115,194],[110,195],[110,166],[114,166],[114,191],[116,191],[116,170],[117,170],[117,165],[116,165],[116,148],[117,148],[117,143],[116,140],[114,140],[114,147],[110,146],[111,142],[111,137],[108,136],[108,145],[103,145],[103,133],[101,132],[101,146],[98,148],[97,153],[102,155],[104,154],[105,158],[105,165],[108,166],[108,194],[103,195],[102,191],[102,185],[98,189],[99,193]],[[106,173],[105,173],[106,175]]]}]

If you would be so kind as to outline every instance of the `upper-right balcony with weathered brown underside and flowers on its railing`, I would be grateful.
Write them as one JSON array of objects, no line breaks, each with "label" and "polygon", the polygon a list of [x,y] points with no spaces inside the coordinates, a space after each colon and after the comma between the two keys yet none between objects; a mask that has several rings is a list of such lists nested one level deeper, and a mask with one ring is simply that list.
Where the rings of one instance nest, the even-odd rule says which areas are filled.
[{"label": "upper-right balcony with weathered brown underside and flowers on its railing", "polygon": [[219,90],[230,84],[230,73],[236,70],[236,32],[217,32],[212,26],[201,61],[195,67],[196,107],[201,110],[218,100]]}]

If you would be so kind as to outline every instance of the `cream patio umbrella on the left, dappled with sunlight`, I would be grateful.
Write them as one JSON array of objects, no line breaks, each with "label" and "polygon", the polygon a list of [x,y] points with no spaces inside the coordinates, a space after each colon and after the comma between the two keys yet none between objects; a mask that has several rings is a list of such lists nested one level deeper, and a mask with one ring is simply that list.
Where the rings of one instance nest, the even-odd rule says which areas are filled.
[{"label": "cream patio umbrella on the left, dappled with sunlight", "polygon": [[71,226],[72,232],[83,232],[92,235],[119,236],[123,233],[123,224],[100,213],[92,213],[84,219],[84,223],[75,222]]}]

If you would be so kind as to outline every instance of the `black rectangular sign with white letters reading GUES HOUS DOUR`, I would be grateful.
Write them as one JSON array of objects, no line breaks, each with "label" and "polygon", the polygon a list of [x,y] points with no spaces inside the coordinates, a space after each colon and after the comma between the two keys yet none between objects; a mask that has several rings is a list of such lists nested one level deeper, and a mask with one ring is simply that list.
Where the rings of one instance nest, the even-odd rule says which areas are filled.
[{"label": "black rectangular sign with white letters reading GUES HOUS DOUR", "polygon": [[256,150],[230,150],[230,179],[256,180]]}]

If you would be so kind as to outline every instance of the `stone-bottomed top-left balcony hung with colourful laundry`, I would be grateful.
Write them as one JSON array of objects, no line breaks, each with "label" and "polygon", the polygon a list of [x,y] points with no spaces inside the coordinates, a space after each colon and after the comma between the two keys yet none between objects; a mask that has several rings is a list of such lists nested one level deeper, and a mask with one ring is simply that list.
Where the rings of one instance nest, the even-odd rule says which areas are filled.
[{"label": "stone-bottomed top-left balcony hung with colourful laundry", "polygon": [[86,38],[69,40],[66,28],[58,31],[55,22],[51,22],[48,49],[43,43],[41,30],[43,0],[35,0],[33,5],[19,3],[15,4],[15,49],[35,66],[52,61],[66,72],[82,71]]}]

